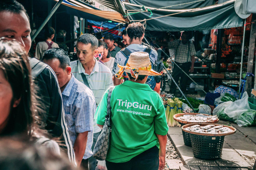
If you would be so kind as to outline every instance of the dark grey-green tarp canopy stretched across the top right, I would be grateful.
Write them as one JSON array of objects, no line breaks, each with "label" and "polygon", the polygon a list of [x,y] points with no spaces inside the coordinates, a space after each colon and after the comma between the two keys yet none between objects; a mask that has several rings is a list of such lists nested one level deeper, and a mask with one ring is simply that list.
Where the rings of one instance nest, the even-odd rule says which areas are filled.
[{"label": "dark grey-green tarp canopy stretched across the top right", "polygon": [[[102,5],[118,10],[124,6],[131,20],[146,21],[146,30],[151,31],[191,31],[242,27],[243,19],[234,9],[235,0],[214,5],[214,0],[94,0]],[[142,12],[141,8],[149,9]],[[151,12],[152,13],[151,13]],[[151,15],[153,14],[153,15]],[[151,15],[151,16],[150,16]]]}]

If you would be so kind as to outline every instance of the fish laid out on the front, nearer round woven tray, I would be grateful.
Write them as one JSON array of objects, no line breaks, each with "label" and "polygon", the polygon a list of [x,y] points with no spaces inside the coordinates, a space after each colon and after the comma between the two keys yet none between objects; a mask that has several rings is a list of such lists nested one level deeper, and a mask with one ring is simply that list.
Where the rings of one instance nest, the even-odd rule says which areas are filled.
[{"label": "fish laid out on the front, nearer round woven tray", "polygon": [[225,127],[223,125],[209,124],[206,126],[200,126],[198,124],[185,128],[186,131],[196,132],[196,133],[208,133],[208,134],[223,134],[234,132],[234,130]]}]

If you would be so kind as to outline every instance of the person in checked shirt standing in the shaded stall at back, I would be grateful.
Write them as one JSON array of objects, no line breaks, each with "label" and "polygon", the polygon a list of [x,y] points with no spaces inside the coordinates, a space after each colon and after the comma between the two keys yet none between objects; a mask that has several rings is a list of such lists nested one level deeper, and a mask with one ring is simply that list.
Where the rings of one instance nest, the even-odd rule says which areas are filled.
[{"label": "person in checked shirt standing in the shaded stall at back", "polygon": [[[174,62],[178,64],[179,67],[187,74],[189,74],[189,72],[193,73],[196,50],[194,44],[189,41],[189,33],[183,32],[181,40],[173,40],[173,38],[171,37],[169,48],[174,48]],[[179,67],[177,65],[174,65],[172,70],[172,77],[174,81],[177,83],[180,79],[180,89],[183,93],[185,93],[188,83],[188,77],[179,69]],[[171,94],[175,95],[176,89],[177,87],[175,86],[175,83],[172,81],[170,87]]]}]

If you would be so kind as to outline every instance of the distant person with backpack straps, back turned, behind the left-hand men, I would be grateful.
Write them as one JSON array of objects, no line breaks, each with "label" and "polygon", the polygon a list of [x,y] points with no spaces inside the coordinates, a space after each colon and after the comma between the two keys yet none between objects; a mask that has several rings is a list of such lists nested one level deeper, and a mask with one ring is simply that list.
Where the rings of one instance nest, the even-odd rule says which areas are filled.
[{"label": "distant person with backpack straps, back turned, behind the left-hand men", "polygon": [[45,41],[39,42],[36,45],[35,58],[42,61],[43,55],[47,49],[60,48],[57,43],[54,43],[52,39],[54,38],[55,30],[52,27],[47,27],[44,32]]}]

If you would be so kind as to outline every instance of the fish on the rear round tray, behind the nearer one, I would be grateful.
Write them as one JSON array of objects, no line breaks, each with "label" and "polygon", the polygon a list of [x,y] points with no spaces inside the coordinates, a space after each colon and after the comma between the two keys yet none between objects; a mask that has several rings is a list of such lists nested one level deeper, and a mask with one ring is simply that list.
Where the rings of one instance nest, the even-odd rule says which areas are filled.
[{"label": "fish on the rear round tray, behind the nearer one", "polygon": [[196,115],[182,115],[176,117],[178,120],[181,121],[186,121],[186,122],[191,122],[191,123],[209,123],[209,122],[214,122],[218,120],[217,116],[206,116],[203,114],[196,114]]}]

